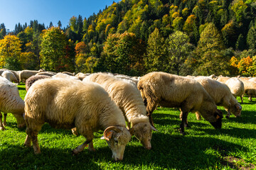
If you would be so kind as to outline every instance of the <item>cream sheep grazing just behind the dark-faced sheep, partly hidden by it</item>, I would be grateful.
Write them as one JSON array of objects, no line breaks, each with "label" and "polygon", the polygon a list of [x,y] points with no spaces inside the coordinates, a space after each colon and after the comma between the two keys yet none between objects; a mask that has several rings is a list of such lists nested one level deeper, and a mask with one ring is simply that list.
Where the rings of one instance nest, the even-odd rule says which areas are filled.
[{"label": "cream sheep grazing just behind the dark-faced sheep, partly hidden by it", "polygon": [[[242,106],[235,99],[226,84],[207,77],[197,77],[196,81],[206,89],[218,106],[224,106],[225,110],[228,111],[226,118],[230,117],[230,113],[235,115],[235,117],[239,117],[241,115]],[[200,118],[200,116],[197,115],[197,118]]]}]

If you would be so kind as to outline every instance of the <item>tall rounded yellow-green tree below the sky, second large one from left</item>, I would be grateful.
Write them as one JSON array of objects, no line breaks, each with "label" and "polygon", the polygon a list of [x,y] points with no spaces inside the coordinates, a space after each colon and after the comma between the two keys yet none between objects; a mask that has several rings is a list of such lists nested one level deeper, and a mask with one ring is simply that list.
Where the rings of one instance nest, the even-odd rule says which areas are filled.
[{"label": "tall rounded yellow-green tree below the sky, second large one from left", "polygon": [[70,55],[70,42],[62,30],[52,27],[43,34],[41,42],[41,63],[43,69],[53,72],[73,72],[73,58]]}]

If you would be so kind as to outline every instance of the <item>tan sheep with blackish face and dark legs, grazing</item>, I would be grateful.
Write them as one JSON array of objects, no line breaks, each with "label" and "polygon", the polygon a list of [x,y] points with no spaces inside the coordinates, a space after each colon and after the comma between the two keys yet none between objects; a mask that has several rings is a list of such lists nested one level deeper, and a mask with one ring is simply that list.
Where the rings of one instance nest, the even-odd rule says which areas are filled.
[{"label": "tan sheep with blackish face and dark legs, grazing", "polygon": [[151,114],[159,104],[169,108],[181,108],[182,135],[185,135],[184,127],[188,126],[188,112],[198,111],[214,128],[221,128],[221,111],[217,109],[213,98],[203,86],[194,79],[165,72],[151,72],[139,80],[137,87],[141,91],[152,124],[154,123]]}]

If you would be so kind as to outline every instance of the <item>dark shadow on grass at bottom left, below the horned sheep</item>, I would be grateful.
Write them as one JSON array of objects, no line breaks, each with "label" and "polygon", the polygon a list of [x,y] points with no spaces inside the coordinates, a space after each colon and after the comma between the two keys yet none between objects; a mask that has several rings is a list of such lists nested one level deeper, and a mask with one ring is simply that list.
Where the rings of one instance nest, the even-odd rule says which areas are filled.
[{"label": "dark shadow on grass at bottom left, below the horned sheep", "polygon": [[32,147],[10,145],[0,152],[0,169],[100,169],[94,162],[99,159],[96,152],[85,149],[73,156],[68,149],[41,147],[41,151],[35,155]]}]

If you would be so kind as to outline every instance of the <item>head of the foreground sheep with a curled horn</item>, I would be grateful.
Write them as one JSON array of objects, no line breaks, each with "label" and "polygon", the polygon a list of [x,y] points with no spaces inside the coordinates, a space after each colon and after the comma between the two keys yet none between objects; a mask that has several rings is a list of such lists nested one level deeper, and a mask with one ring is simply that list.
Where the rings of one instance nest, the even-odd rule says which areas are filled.
[{"label": "head of the foreground sheep with a curled horn", "polygon": [[124,149],[131,140],[131,134],[122,126],[110,126],[104,131],[102,139],[107,141],[108,146],[112,150],[112,158],[114,161],[122,161],[124,157]]}]

